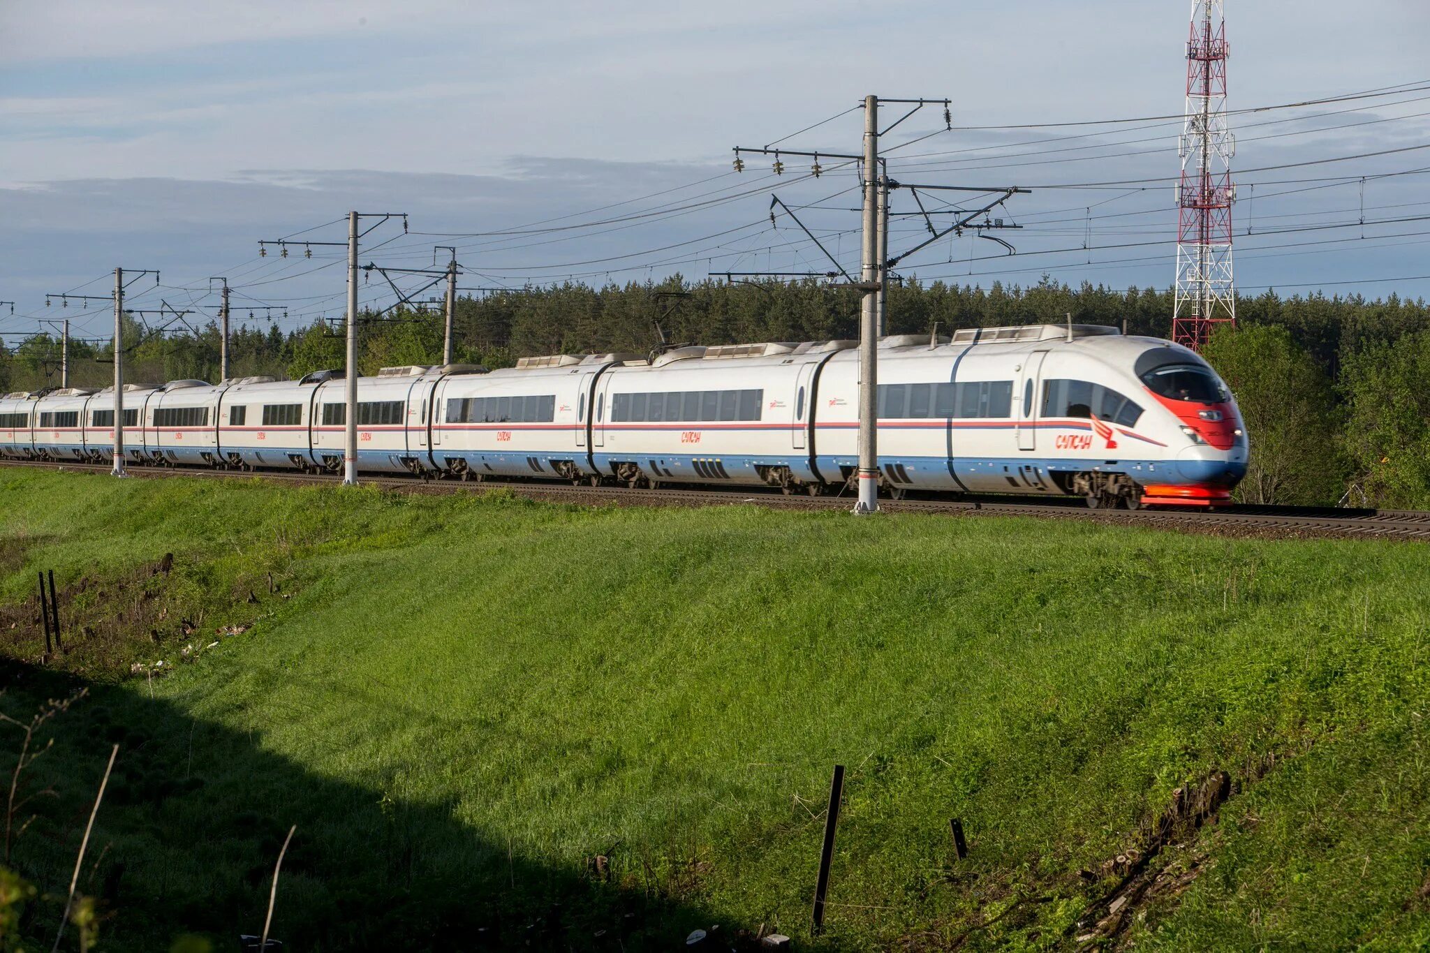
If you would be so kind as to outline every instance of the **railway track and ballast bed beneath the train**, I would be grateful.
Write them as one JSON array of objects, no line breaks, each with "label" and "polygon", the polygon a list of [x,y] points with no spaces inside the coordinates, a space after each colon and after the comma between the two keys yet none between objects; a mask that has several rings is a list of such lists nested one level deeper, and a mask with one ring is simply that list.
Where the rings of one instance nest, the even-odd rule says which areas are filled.
[{"label": "railway track and ballast bed beneath the train", "polygon": [[[109,473],[109,464],[93,463],[49,463],[39,460],[0,460],[4,467],[51,469],[89,473]],[[263,479],[297,484],[330,486],[335,476],[313,476],[305,473],[233,471],[170,469],[153,466],[129,466],[129,473],[143,479]],[[416,477],[369,476],[363,483],[406,493],[483,493],[509,490],[535,500],[619,506],[729,506],[755,504],[781,510],[847,510],[854,500],[844,496],[784,496],[776,490],[732,487],[732,489],[628,489],[589,487],[561,483],[538,483],[522,480],[483,480],[463,483],[458,480],[419,480]],[[1277,506],[1234,506],[1213,512],[1205,510],[1088,510],[1081,500],[1055,499],[1037,503],[1022,499],[914,499],[881,500],[879,507],[888,513],[924,513],[944,516],[1031,516],[1040,519],[1093,520],[1121,526],[1143,526],[1151,529],[1174,529],[1183,532],[1214,533],[1221,536],[1286,536],[1286,537],[1389,537],[1406,540],[1430,540],[1430,512],[1416,510],[1348,510]]]}]

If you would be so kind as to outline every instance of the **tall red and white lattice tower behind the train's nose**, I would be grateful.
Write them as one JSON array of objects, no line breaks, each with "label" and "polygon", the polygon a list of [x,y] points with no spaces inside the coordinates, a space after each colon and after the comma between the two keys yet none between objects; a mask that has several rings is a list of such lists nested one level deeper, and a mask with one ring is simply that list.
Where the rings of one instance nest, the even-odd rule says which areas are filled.
[{"label": "tall red and white lattice tower behind the train's nose", "polygon": [[1177,294],[1171,337],[1200,349],[1218,323],[1237,320],[1231,281],[1231,181],[1227,129],[1227,24],[1223,0],[1193,0],[1187,39],[1187,123],[1177,183]]}]

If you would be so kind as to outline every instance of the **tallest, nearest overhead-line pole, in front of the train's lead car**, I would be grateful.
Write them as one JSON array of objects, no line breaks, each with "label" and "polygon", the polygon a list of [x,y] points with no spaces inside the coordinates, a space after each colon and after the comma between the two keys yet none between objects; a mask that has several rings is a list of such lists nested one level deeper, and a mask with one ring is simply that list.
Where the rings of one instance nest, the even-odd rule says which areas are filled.
[{"label": "tallest, nearest overhead-line pole, in front of the train's lead car", "polygon": [[[878,191],[879,191],[879,100],[864,97],[864,247],[861,256],[859,281],[877,284],[884,271],[879,261],[878,243]],[[859,314],[859,502],[857,514],[879,510],[879,461],[878,461],[878,346],[879,346],[878,293],[864,291]]]}]

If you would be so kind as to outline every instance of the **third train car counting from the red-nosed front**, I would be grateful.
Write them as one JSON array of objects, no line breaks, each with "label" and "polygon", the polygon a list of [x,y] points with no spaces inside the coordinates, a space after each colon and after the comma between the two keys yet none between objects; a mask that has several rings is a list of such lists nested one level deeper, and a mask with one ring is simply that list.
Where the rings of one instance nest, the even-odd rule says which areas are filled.
[{"label": "third train car counting from the red-nosed front", "polygon": [[433,393],[433,469],[463,479],[596,476],[588,443],[595,381],[633,354],[523,357],[448,376]]}]

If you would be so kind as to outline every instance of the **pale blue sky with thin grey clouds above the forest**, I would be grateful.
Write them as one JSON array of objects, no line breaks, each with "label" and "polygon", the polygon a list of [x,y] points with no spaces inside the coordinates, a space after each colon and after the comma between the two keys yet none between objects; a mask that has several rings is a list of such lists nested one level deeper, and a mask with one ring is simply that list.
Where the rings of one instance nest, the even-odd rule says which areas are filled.
[{"label": "pale blue sky with thin grey clouds above the forest", "polygon": [[[0,334],[60,316],[103,333],[102,306],[44,294],[107,294],[116,266],[160,270],[136,306],[212,313],[207,279],[226,276],[237,304],[286,307],[287,326],[340,314],[342,249],[259,257],[257,241],[342,241],[349,209],[408,213],[406,234],[365,220],[365,263],[433,267],[435,246],[456,246],[470,287],[832,269],[791,217],[771,226],[776,194],[852,270],[857,173],[824,160],[814,179],[788,157],[774,176],[761,156],[735,173],[731,149],[858,151],[867,93],[952,100],[952,131],[925,107],[885,136],[898,180],[1032,189],[995,211],[1022,226],[994,233],[1017,254],[951,236],[905,277],[1167,287],[1181,123],[1145,117],[1183,111],[1190,7],[3,0],[0,300],[16,304]],[[1237,284],[1426,294],[1430,4],[1226,13],[1231,110],[1407,90],[1231,116]],[[1111,119],[1144,121],[1045,126]],[[908,190],[892,207],[899,253],[927,230]],[[373,280],[363,300],[395,296]]]}]

